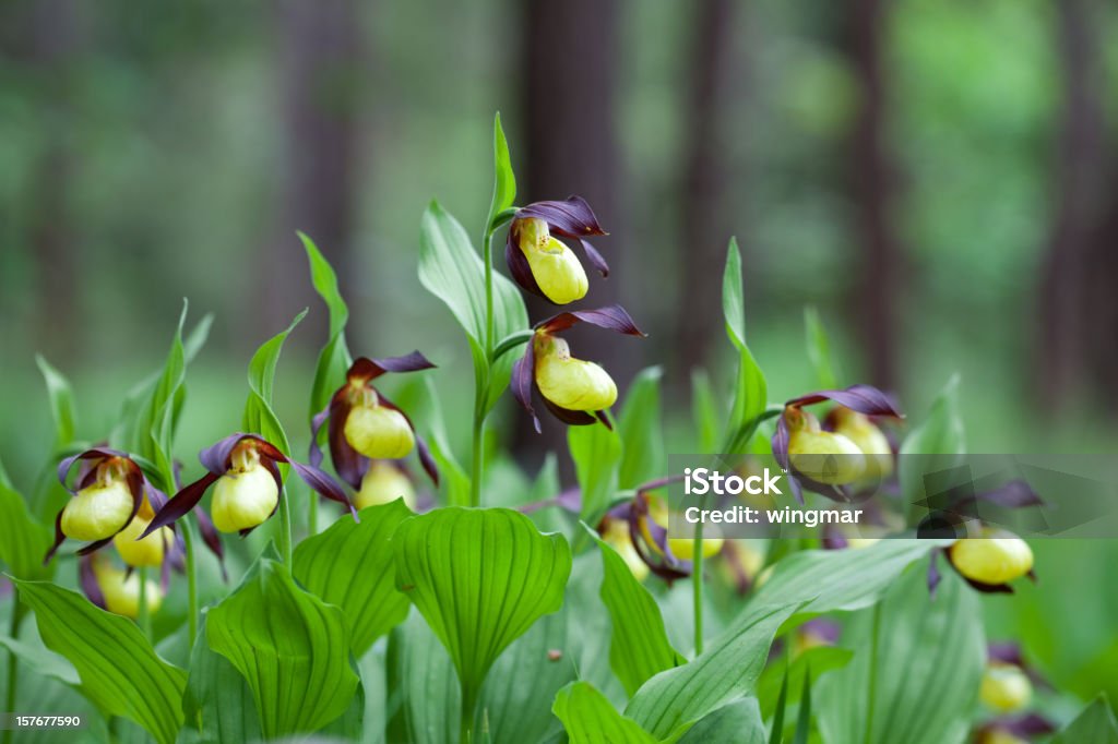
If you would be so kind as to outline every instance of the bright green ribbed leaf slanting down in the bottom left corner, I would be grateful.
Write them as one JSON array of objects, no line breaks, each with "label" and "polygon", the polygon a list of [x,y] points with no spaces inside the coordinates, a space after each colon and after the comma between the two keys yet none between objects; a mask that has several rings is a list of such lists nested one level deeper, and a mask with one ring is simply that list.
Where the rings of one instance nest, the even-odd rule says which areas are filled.
[{"label": "bright green ribbed leaf slanting down in the bottom left corner", "polygon": [[15,583],[35,611],[42,642],[69,659],[82,678],[82,693],[94,705],[134,721],[160,744],[174,742],[182,725],[182,669],[155,656],[131,620],[54,584]]}]

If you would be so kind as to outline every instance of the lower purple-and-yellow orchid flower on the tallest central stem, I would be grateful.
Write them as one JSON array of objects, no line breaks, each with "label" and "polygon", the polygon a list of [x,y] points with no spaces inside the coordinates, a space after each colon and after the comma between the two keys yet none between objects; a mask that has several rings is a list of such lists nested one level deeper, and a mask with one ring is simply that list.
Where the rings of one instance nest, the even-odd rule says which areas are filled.
[{"label": "lower purple-and-yellow orchid flower on the tallest central stem", "polygon": [[541,428],[532,408],[533,389],[563,423],[585,426],[600,420],[609,426],[605,410],[617,400],[617,385],[599,365],[571,356],[567,341],[556,335],[578,323],[631,336],[645,335],[620,305],[560,313],[537,324],[524,355],[512,368],[512,394],[531,413],[537,431]]}]

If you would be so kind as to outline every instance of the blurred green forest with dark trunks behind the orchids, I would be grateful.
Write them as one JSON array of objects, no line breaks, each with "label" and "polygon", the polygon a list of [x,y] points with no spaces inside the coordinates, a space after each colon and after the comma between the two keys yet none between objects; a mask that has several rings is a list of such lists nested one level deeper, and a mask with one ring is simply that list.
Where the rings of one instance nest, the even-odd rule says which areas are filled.
[{"label": "blurred green forest with dark trunks behind the orchids", "polygon": [[737,235],[774,399],[816,387],[814,305],[843,383],[922,416],[959,371],[972,451],[1114,451],[1116,40],[1101,0],[3,3],[0,452],[26,480],[49,442],[37,352],[102,437],[183,297],[216,316],[183,451],[237,426],[252,351],[310,306],[278,382],[305,441],[325,313],[296,229],[356,353],[444,368],[464,452],[468,352],[416,277],[418,221],[437,197],[480,232],[496,109],[519,203],[587,197],[615,269],[588,302],[651,333],[579,355],[623,385],[663,364],[679,421],[692,368],[732,369]]}]

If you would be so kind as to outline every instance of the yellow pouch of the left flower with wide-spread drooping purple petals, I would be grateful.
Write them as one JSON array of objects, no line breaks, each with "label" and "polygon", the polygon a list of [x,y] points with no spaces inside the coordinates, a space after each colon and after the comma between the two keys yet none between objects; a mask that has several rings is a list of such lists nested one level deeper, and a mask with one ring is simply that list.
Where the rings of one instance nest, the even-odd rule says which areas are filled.
[{"label": "yellow pouch of the left flower with wide-spread drooping purple petals", "polygon": [[278,503],[275,477],[260,464],[253,440],[244,440],[234,448],[231,467],[214,487],[214,526],[221,532],[252,530],[272,516]]}]

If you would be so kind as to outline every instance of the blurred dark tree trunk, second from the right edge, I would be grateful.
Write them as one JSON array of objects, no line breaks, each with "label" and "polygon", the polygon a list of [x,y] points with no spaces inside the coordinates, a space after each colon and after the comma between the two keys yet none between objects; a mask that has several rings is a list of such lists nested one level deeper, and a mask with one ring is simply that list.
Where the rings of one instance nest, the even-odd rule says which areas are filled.
[{"label": "blurred dark tree trunk, second from the right edge", "polygon": [[884,136],[884,70],[881,65],[883,6],[854,0],[849,31],[850,57],[861,80],[862,107],[851,141],[851,187],[856,239],[863,248],[861,280],[852,306],[869,360],[873,384],[897,384],[897,306],[900,249],[891,223],[893,163]]}]

